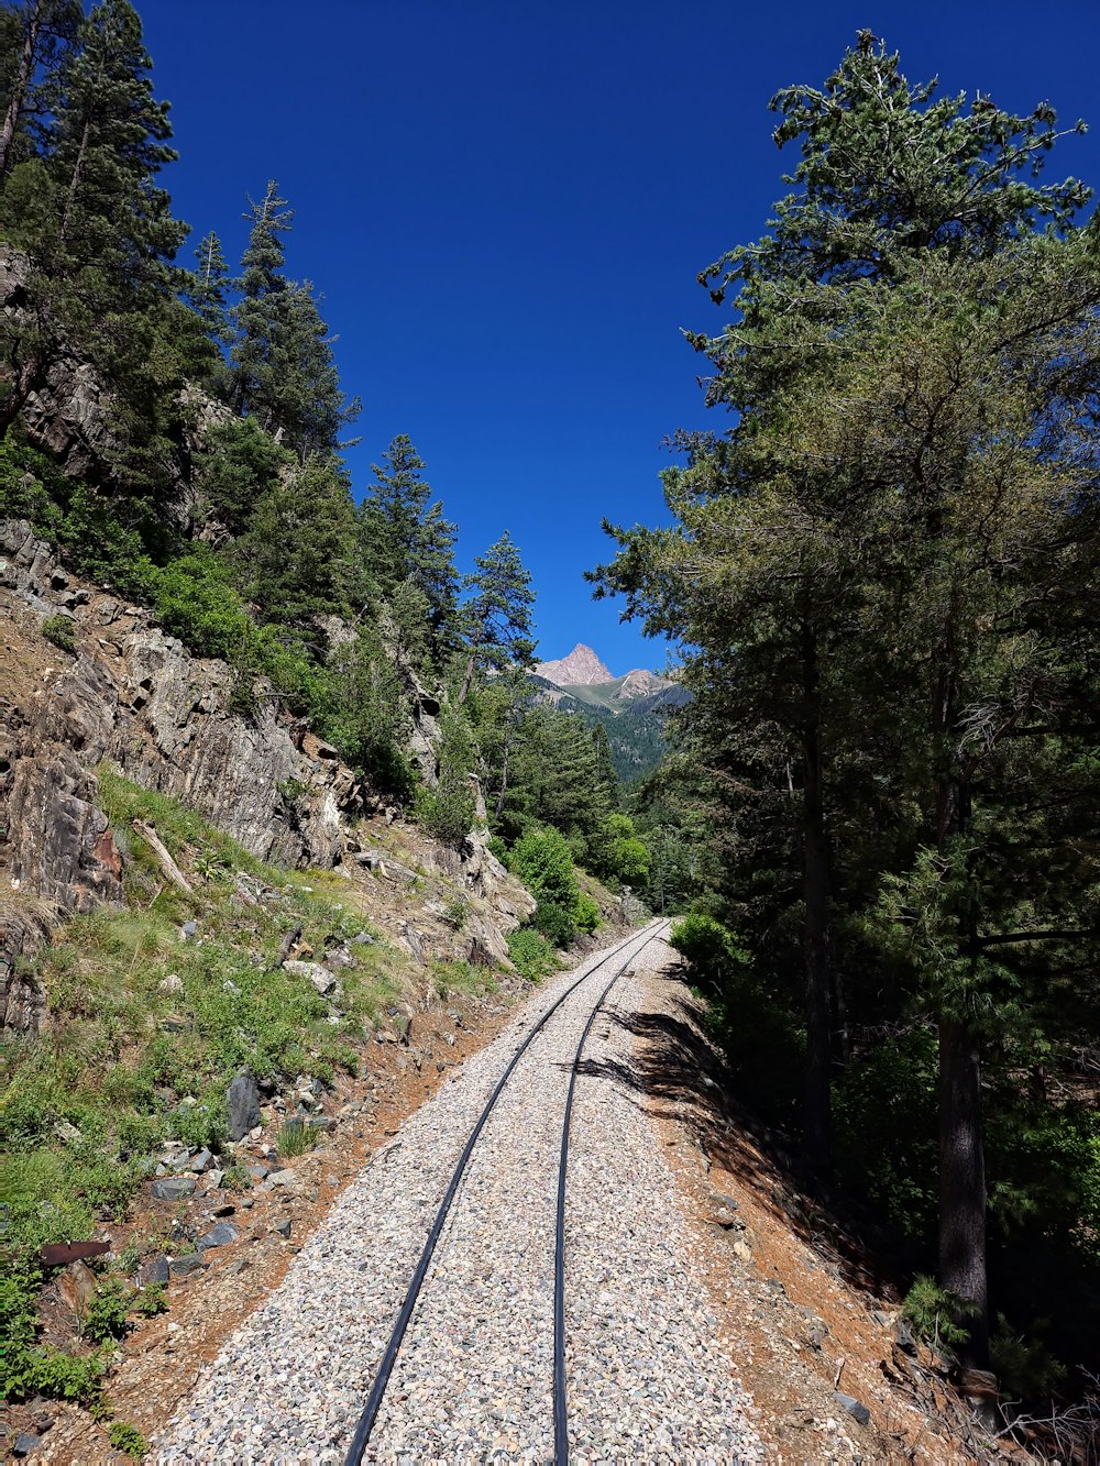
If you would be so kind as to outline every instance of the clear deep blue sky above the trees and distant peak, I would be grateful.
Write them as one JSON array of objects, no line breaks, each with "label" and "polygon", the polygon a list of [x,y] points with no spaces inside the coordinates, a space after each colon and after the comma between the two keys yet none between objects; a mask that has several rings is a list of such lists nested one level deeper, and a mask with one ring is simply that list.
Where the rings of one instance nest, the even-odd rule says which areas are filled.
[{"label": "clear deep blue sky above the trees and distant peak", "polygon": [[[287,273],[324,293],[356,497],[397,432],[459,525],[459,563],[512,532],[543,657],[590,642],[615,673],[663,649],[593,603],[600,519],[664,517],[661,438],[711,421],[681,327],[695,283],[764,232],[773,92],[820,84],[861,26],[911,79],[1100,129],[1096,0],[136,0],[198,239],[236,265],[246,195],[296,210]],[[1096,136],[1052,176],[1100,185]],[[191,246],[189,246],[191,248]]]}]

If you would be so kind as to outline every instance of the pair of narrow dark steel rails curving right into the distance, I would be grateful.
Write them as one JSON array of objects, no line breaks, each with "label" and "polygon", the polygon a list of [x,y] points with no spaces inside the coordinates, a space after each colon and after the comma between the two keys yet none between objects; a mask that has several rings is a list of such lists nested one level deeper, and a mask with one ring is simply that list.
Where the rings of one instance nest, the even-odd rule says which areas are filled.
[{"label": "pair of narrow dark steel rails curving right into the distance", "polygon": [[[569,1073],[569,1088],[566,1092],[565,1111],[562,1117],[562,1143],[559,1151],[557,1163],[557,1218],[556,1218],[556,1243],[554,1243],[554,1340],[553,1340],[553,1415],[554,1415],[554,1462],[557,1466],[565,1466],[569,1459],[569,1422],[568,1422],[568,1401],[566,1401],[566,1377],[565,1377],[565,1218],[566,1218],[566,1179],[569,1168],[569,1124],[573,1108],[573,1092],[576,1088],[576,1076],[581,1063],[581,1054],[584,1045],[591,1032],[595,1016],[603,1007],[607,995],[610,994],[619,978],[629,969],[631,963],[642,953],[651,941],[656,941],[663,932],[667,932],[670,922],[657,921],[647,927],[641,934],[634,934],[620,943],[617,947],[612,949],[604,957],[595,962],[587,972],[584,972],[573,984],[571,984],[565,992],[543,1013],[538,1022],[531,1028],[531,1032],[524,1038],[519,1048],[512,1056],[507,1067],[497,1080],[496,1088],[481,1114],[478,1116],[474,1129],[469,1133],[466,1145],[459,1157],[455,1171],[450,1177],[450,1183],[443,1195],[443,1201],[439,1205],[436,1218],[428,1231],[427,1242],[424,1243],[424,1250],[421,1252],[419,1262],[412,1274],[408,1292],[405,1293],[405,1302],[402,1303],[397,1321],[393,1325],[389,1343],[383,1352],[381,1362],[374,1375],[374,1382],[371,1385],[370,1396],[367,1397],[367,1404],[362,1409],[359,1422],[352,1438],[352,1444],[345,1456],[345,1466],[359,1466],[364,1457],[367,1444],[370,1443],[371,1432],[374,1429],[375,1421],[378,1418],[378,1410],[381,1409],[383,1399],[386,1396],[386,1388],[390,1382],[390,1375],[397,1362],[397,1355],[400,1353],[402,1343],[412,1322],[412,1316],[417,1309],[417,1302],[424,1289],[425,1280],[428,1277],[428,1270],[431,1267],[431,1259],[436,1252],[436,1245],[443,1234],[447,1217],[450,1214],[452,1204],[459,1193],[462,1185],[462,1177],[469,1163],[471,1155],[478,1143],[481,1132],[488,1121],[497,1100],[505,1091],[509,1079],[515,1073],[518,1064],[528,1053],[531,1044],[543,1034],[573,992],[587,984],[597,972],[613,965],[619,957],[623,960],[617,968],[613,969],[610,979],[601,988],[598,997],[593,1003],[591,1012],[588,1013],[588,1020],[581,1034],[581,1039],[576,1045],[576,1053],[573,1056],[571,1073]],[[430,1284],[428,1284],[430,1286]]]}]

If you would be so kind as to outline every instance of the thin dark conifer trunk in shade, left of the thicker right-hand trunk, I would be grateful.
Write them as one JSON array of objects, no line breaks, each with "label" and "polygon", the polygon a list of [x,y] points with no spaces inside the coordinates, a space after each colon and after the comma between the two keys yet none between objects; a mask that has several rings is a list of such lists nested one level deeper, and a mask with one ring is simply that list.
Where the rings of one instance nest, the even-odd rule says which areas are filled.
[{"label": "thin dark conifer trunk in shade, left of the thicker right-hand trunk", "polygon": [[805,903],[805,1129],[807,1160],[820,1176],[832,1168],[832,1098],[829,1089],[832,1044],[829,1035],[829,843],[824,827],[824,792],[820,729],[820,670],[817,639],[807,625],[802,633],[805,721],[802,732],[802,827]]}]

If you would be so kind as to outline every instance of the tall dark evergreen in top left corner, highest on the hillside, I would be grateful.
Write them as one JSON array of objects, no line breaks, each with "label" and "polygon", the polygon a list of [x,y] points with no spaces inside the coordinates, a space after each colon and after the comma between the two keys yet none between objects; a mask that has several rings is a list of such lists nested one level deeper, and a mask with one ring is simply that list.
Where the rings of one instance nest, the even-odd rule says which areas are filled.
[{"label": "tall dark evergreen in top left corner, highest on the hillside", "polygon": [[132,6],[95,6],[48,79],[43,154],[12,169],[0,198],[9,237],[34,265],[28,306],[6,333],[0,427],[75,342],[110,383],[116,469],[135,488],[170,481],[179,388],[208,359],[176,303],[172,261],[186,226],[155,182],[175,152],[150,65]]}]

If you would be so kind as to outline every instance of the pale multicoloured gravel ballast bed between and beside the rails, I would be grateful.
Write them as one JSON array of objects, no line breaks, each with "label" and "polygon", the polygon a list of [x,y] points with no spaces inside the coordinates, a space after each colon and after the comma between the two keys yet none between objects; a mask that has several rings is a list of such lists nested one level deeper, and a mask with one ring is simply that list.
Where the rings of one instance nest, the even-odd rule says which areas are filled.
[{"label": "pale multicoloured gravel ballast bed between and beside the rails", "polygon": [[[653,928],[650,928],[653,929]],[[626,951],[637,953],[644,935]],[[610,949],[609,949],[610,950]],[[575,976],[557,978],[345,1190],[283,1284],[204,1371],[154,1443],[157,1460],[340,1462],[455,1163],[519,1039]],[[654,941],[612,992],[634,1012]],[[550,1460],[553,1246],[560,1117],[591,1004],[582,982],[505,1088],[466,1168],[367,1450],[368,1460]],[[598,1017],[585,1058],[629,1063]],[[566,1233],[572,1459],[760,1459],[701,1283],[682,1204],[638,1107],[582,1075]]]}]

